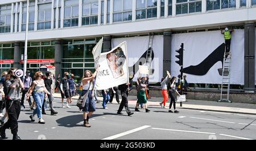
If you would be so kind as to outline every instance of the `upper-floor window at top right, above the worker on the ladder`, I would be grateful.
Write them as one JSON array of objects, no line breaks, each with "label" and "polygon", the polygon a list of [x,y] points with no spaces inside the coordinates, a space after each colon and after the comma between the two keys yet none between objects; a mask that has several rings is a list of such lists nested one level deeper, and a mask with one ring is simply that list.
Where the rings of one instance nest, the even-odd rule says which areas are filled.
[{"label": "upper-floor window at top right, above the worker on the ladder", "polygon": [[[243,0],[241,0],[241,2],[242,1]],[[236,0],[216,0],[216,1],[207,0],[207,11],[224,9],[224,8],[233,8],[233,7],[236,7]]]}]

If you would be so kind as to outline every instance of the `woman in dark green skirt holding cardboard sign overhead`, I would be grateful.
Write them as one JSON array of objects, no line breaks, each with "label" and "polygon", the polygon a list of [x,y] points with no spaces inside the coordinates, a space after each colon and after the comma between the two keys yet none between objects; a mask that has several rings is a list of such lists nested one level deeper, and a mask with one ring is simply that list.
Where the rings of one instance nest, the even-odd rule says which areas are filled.
[{"label": "woman in dark green skirt holding cardboard sign overhead", "polygon": [[135,111],[139,111],[138,107],[139,107],[139,103],[144,103],[145,105],[145,109],[146,112],[149,112],[150,110],[147,109],[147,97],[146,97],[146,89],[147,89],[147,85],[146,85],[146,78],[145,77],[138,77],[137,80],[137,84],[138,84],[138,101],[135,107]]}]

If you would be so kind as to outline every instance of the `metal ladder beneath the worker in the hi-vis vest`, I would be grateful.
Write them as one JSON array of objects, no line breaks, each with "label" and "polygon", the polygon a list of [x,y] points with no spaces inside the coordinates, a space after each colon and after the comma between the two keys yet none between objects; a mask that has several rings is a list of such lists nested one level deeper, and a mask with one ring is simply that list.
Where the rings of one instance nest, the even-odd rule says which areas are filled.
[{"label": "metal ladder beneath the worker in the hi-vis vest", "polygon": [[[221,99],[218,100],[218,102],[228,101],[232,103],[232,101],[229,100],[231,53],[228,55],[227,58],[225,58],[225,54],[226,54],[226,51],[224,53],[223,67],[222,67]],[[227,92],[227,93],[224,94],[224,92]],[[226,98],[224,97],[225,95],[226,95]]]}]

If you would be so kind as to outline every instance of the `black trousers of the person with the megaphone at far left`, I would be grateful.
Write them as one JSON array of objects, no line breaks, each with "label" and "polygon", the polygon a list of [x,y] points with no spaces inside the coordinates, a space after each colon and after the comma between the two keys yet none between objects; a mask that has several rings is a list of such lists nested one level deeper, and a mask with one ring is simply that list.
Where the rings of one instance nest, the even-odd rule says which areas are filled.
[{"label": "black trousers of the person with the megaphone at far left", "polygon": [[20,113],[20,102],[18,100],[6,101],[6,109],[8,113],[8,121],[3,125],[3,130],[11,128],[11,133],[15,136],[18,133],[18,118]]}]

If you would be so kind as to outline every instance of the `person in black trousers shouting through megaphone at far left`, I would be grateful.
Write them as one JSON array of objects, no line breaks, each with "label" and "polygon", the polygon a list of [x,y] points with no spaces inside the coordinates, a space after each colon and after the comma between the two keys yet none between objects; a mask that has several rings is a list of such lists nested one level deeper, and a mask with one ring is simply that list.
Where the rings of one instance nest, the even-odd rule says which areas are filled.
[{"label": "person in black trousers shouting through megaphone at far left", "polygon": [[22,80],[15,76],[16,68],[10,68],[5,79],[5,86],[7,89],[6,109],[8,113],[8,121],[0,128],[0,135],[2,139],[5,139],[5,130],[11,128],[13,133],[13,140],[21,140],[18,136],[18,118],[20,113],[20,88],[24,88]]}]

